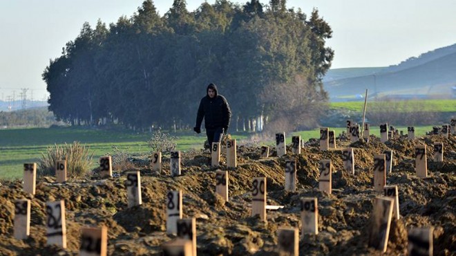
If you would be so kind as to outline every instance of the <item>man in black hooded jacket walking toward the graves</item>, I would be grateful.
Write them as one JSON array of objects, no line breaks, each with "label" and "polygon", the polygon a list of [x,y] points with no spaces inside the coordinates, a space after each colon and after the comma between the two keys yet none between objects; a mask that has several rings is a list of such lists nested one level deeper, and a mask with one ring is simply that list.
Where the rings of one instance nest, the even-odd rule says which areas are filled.
[{"label": "man in black hooded jacket walking toward the graves", "polygon": [[198,114],[196,116],[196,126],[193,131],[197,134],[201,132],[202,118],[205,118],[205,128],[209,148],[212,151],[212,143],[220,142],[222,134],[227,133],[229,121],[231,120],[231,109],[227,99],[217,93],[217,86],[209,84],[207,95],[201,99]]}]

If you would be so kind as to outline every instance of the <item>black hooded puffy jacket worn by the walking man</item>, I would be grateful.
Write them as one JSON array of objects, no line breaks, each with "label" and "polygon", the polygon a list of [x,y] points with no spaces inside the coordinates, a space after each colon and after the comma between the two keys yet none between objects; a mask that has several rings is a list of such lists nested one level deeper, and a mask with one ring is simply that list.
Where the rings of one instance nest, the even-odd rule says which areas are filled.
[{"label": "black hooded puffy jacket worn by the walking man", "polygon": [[[213,89],[216,95],[213,98],[209,97],[209,89]],[[202,118],[205,118],[205,128],[225,128],[228,129],[229,121],[231,120],[231,109],[227,99],[217,92],[215,84],[209,84],[206,89],[206,96],[200,101],[198,114],[196,116],[196,127],[201,127]]]}]

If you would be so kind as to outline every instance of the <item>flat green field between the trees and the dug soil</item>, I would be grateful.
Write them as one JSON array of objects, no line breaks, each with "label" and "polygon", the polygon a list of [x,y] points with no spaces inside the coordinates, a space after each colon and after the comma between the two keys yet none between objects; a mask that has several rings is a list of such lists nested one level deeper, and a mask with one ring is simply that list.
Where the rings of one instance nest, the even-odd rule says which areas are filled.
[{"label": "flat green field between the trees and the dug soil", "polygon": [[[341,134],[345,128],[330,128],[336,134]],[[372,129],[372,134],[379,136],[379,129]],[[406,127],[398,127],[406,131]],[[432,127],[415,127],[415,134],[422,136]],[[286,143],[291,143],[292,135],[300,135],[304,141],[309,138],[319,138],[319,129],[299,131],[286,134]],[[113,147],[127,154],[148,154],[151,148],[147,145],[150,134],[135,134],[125,131],[104,131],[97,129],[79,129],[73,127],[53,129],[6,129],[0,130],[0,179],[21,179],[23,163],[38,162],[41,154],[46,154],[47,147],[63,145],[79,141],[93,152],[93,167],[97,166],[98,158],[106,154],[114,154]],[[191,148],[200,149],[206,140],[205,134],[182,132],[171,134],[178,138],[178,150],[187,151]],[[249,134],[235,134],[240,143],[246,141]],[[271,136],[274,138],[274,136]],[[238,144],[240,144],[238,143]],[[274,145],[274,139],[262,141],[261,145]]]}]

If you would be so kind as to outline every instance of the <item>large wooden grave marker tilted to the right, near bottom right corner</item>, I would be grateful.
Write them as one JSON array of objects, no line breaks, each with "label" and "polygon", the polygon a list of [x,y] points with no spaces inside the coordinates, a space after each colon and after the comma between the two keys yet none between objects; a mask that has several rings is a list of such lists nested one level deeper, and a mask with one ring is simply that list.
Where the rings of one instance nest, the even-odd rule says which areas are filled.
[{"label": "large wooden grave marker tilted to the right, near bottom right corner", "polygon": [[374,200],[372,217],[370,219],[372,225],[370,225],[369,230],[369,247],[381,250],[383,253],[386,253],[386,246],[388,246],[392,205],[392,199],[383,196],[376,197]]}]

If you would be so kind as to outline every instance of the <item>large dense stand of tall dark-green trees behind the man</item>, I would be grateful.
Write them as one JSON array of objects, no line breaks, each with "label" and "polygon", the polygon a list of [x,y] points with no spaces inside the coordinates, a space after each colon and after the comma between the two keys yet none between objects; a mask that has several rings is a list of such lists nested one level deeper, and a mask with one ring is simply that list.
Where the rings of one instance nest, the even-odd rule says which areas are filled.
[{"label": "large dense stand of tall dark-green trees behind the man", "polygon": [[231,127],[260,116],[283,122],[289,110],[299,111],[287,120],[298,127],[327,102],[331,36],[318,10],[307,17],[285,0],[217,0],[193,12],[174,0],[162,17],[146,0],[115,24],[84,23],[42,77],[49,110],[72,125],[191,127],[213,82],[229,101]]}]

